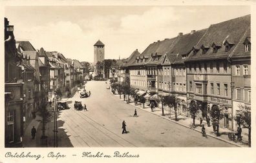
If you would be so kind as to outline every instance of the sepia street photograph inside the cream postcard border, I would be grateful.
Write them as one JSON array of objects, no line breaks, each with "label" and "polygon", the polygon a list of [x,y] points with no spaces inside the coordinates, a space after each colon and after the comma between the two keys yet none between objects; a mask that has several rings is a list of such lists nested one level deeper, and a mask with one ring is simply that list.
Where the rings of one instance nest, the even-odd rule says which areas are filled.
[{"label": "sepia street photograph inside the cream postcard border", "polygon": [[251,148],[250,5],[5,6],[2,21],[5,148]]}]

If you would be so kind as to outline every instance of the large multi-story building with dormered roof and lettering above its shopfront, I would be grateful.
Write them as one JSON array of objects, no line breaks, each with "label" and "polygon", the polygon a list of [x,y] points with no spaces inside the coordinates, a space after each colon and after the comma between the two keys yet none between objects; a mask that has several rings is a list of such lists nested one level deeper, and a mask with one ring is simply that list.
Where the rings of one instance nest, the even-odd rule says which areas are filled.
[{"label": "large multi-story building with dormered roof and lettering above its shopfront", "polygon": [[[202,104],[199,116],[204,119],[213,108],[223,110],[224,119],[220,121],[222,128],[233,129],[231,92],[236,75],[231,77],[232,66],[228,62],[228,56],[235,52],[249,26],[250,15],[212,24],[193,47],[186,60],[187,103]],[[237,66],[237,72],[240,71],[240,67],[242,66]],[[246,79],[241,73],[237,76]],[[244,88],[238,83],[235,86]]]}]

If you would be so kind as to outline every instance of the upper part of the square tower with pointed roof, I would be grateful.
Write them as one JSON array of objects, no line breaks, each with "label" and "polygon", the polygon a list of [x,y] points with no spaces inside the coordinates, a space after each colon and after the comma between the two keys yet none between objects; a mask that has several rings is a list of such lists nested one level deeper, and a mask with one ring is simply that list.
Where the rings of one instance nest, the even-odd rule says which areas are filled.
[{"label": "upper part of the square tower with pointed roof", "polygon": [[105,59],[105,49],[104,44],[99,40],[97,43],[94,44],[94,65],[97,62],[102,62]]}]

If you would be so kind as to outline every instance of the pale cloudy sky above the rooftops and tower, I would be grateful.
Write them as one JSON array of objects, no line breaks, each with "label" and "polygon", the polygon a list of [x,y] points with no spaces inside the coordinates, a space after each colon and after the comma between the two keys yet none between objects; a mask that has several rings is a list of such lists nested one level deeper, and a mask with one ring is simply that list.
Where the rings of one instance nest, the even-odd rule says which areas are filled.
[{"label": "pale cloudy sky above the rooftops and tower", "polygon": [[[239,11],[239,12],[238,12]],[[142,53],[149,44],[179,32],[208,28],[250,14],[250,6],[6,6],[16,40],[66,58],[93,62],[94,43],[105,59]]]}]

